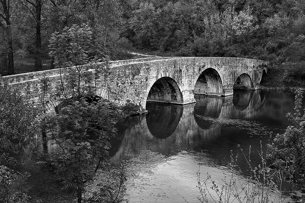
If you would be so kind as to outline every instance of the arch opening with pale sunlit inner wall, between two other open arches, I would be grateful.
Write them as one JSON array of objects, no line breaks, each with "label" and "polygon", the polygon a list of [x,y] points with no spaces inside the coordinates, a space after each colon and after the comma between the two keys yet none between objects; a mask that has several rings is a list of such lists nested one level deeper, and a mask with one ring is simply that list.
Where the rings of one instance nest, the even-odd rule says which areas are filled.
[{"label": "arch opening with pale sunlit inner wall, between two other open arches", "polygon": [[195,94],[224,96],[221,77],[214,68],[205,69],[196,81]]}]

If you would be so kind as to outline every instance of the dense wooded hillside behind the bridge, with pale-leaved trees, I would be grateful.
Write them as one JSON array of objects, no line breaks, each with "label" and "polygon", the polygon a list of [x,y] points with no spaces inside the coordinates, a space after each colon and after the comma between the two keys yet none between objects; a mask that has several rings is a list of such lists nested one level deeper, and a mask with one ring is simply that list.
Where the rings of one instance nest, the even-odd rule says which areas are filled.
[{"label": "dense wooded hillside behind the bridge, with pale-leaved trees", "polygon": [[[303,60],[302,1],[139,0],[130,5],[125,33],[139,48],[175,56]],[[148,13],[151,18],[145,19]]]}]

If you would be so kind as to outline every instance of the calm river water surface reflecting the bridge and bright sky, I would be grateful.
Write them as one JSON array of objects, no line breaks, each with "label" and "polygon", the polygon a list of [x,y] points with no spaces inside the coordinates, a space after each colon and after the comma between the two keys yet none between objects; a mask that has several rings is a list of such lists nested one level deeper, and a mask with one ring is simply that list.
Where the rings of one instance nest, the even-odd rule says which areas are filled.
[{"label": "calm river water surface reflecting the bridge and bright sky", "polygon": [[[246,153],[251,145],[251,162],[259,164],[260,141],[265,150],[270,135],[284,132],[294,94],[235,91],[227,97],[196,95],[196,101],[185,106],[147,103],[148,114],[118,126],[110,161],[114,166],[125,164],[133,174],[126,183],[129,202],[198,202],[199,161],[203,179],[209,173],[222,185],[230,150],[236,155],[237,145]],[[249,176],[242,156],[237,175],[242,181]]]}]

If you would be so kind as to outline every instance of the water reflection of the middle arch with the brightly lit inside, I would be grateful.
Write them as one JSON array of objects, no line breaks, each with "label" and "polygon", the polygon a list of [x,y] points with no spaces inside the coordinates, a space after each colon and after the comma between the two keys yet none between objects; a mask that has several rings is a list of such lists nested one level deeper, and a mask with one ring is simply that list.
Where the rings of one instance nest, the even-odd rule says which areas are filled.
[{"label": "water reflection of the middle arch with the brightly lit inside", "polygon": [[223,102],[224,97],[196,95],[194,118],[197,125],[202,129],[209,129],[213,123],[204,120],[203,117],[218,118]]}]

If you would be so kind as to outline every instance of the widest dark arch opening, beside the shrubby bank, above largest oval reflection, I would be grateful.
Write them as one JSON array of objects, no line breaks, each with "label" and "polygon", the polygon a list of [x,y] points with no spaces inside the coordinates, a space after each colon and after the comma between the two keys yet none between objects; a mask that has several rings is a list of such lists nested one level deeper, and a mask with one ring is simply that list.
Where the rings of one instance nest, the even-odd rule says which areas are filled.
[{"label": "widest dark arch opening, beside the shrubby bank, above largest oval reflection", "polygon": [[183,104],[183,96],[174,79],[162,77],[150,88],[147,101]]}]

